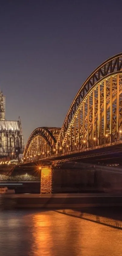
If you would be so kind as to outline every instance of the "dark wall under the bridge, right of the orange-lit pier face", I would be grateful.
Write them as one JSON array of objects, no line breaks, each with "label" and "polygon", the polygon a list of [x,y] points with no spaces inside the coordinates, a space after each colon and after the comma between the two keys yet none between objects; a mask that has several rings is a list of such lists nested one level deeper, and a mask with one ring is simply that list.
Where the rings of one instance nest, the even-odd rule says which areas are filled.
[{"label": "dark wall under the bridge, right of the orange-lit pier face", "polygon": [[54,193],[122,192],[122,172],[106,170],[64,169],[53,170]]}]

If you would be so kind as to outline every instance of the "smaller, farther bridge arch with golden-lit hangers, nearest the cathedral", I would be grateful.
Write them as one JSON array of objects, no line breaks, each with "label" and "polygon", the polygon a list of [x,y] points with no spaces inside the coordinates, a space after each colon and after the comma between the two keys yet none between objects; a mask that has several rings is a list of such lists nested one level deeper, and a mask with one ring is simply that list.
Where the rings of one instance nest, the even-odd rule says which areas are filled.
[{"label": "smaller, farther bridge arch with golden-lit hangers, nearest the cathedral", "polygon": [[30,135],[24,150],[24,160],[36,160],[55,154],[61,128],[39,127]]}]

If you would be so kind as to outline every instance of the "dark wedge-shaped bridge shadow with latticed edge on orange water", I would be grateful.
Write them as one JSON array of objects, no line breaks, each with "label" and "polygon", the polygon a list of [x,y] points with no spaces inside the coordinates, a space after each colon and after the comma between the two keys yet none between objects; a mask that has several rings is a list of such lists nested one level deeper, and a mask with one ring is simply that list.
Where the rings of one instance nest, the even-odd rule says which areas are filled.
[{"label": "dark wedge-shaped bridge shadow with latticed edge on orange water", "polygon": [[60,214],[122,229],[122,207],[91,207],[54,210]]}]

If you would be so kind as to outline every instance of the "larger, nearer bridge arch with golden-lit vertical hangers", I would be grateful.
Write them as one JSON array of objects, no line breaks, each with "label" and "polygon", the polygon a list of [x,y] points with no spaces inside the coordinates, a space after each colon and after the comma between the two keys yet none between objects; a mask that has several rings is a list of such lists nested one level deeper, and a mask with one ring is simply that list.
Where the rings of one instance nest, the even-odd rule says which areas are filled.
[{"label": "larger, nearer bridge arch with golden-lit vertical hangers", "polygon": [[122,139],[122,53],[107,59],[77,92],[64,120],[57,153]]}]

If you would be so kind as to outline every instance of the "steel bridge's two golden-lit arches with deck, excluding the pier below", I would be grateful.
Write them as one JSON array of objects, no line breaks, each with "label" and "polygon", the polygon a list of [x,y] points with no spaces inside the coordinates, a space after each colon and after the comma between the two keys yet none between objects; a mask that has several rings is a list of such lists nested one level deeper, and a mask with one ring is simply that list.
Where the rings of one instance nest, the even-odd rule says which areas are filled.
[{"label": "steel bridge's two golden-lit arches with deck, excluding the pier below", "polygon": [[97,161],[122,152],[122,53],[97,67],[77,92],[61,128],[30,135],[24,162]]}]

